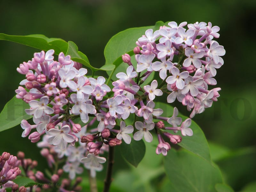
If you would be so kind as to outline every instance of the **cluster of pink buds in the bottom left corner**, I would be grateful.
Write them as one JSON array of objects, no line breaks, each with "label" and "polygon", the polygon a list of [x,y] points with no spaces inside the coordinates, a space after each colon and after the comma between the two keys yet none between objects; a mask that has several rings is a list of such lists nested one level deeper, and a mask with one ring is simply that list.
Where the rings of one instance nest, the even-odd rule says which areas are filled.
[{"label": "cluster of pink buds in the bottom left corner", "polygon": [[0,191],[6,191],[6,188],[12,188],[12,191],[18,189],[18,185],[14,180],[20,175],[20,161],[16,156],[3,152],[0,156]]}]

